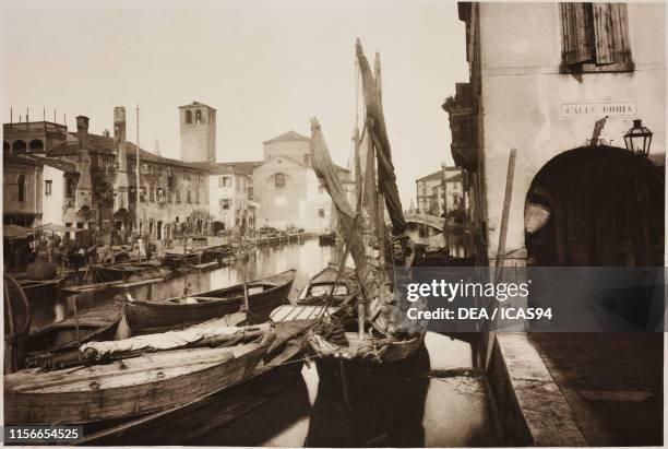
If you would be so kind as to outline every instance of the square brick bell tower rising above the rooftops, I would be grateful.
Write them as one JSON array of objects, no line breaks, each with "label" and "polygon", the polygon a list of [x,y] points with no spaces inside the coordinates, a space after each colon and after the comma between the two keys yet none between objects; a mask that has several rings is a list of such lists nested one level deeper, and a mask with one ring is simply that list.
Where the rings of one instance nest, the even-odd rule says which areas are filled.
[{"label": "square brick bell tower rising above the rooftops", "polygon": [[179,106],[181,161],[216,162],[216,109],[199,102]]}]

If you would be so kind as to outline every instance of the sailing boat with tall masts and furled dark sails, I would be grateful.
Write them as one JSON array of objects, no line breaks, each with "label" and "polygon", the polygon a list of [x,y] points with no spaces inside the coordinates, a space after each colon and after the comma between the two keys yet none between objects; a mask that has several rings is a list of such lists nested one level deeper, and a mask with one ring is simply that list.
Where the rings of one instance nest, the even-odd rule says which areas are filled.
[{"label": "sailing boat with tall masts and furled dark sails", "polygon": [[[357,180],[355,210],[336,176],[315,118],[311,119],[310,143],[313,169],[335,205],[338,226],[355,262],[363,295],[363,302],[361,296],[358,302],[357,332],[345,332],[339,320],[324,317],[307,334],[320,380],[341,392],[346,404],[355,401],[358,392],[373,391],[378,377],[387,377],[395,367],[409,364],[424,344],[426,332],[421,322],[404,327],[398,321],[403,300],[396,293],[398,284],[406,282],[401,279],[405,273],[402,269],[409,264],[414,248],[413,241],[405,234],[407,224],[395,182],[396,174],[382,111],[379,55],[375,76],[371,73],[359,39],[356,43],[356,55],[367,119],[361,134],[363,138],[359,137],[357,127],[355,131],[356,167],[362,166],[362,146],[366,152],[363,176]],[[385,211],[392,224],[390,240],[385,228]],[[366,239],[362,228],[366,228]],[[371,263],[368,255],[375,250],[378,258],[375,263]],[[424,307],[422,303],[420,298],[416,306]]]}]

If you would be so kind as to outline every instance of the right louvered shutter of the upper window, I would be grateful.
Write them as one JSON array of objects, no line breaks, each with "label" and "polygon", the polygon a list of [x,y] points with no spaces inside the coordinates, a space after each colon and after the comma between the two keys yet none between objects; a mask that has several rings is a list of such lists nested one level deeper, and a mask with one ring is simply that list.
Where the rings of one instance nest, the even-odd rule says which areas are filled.
[{"label": "right louvered shutter of the upper window", "polygon": [[596,62],[631,62],[627,4],[594,3]]}]

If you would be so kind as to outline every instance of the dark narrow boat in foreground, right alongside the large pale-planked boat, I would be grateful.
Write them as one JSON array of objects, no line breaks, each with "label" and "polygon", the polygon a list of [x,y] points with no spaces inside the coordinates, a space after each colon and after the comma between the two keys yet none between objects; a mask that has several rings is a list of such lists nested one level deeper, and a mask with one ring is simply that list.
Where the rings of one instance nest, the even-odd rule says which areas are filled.
[{"label": "dark narrow boat in foreground, right alongside the large pale-planked boat", "polygon": [[[184,445],[263,404],[301,373],[303,323],[278,323],[276,340],[240,382],[177,407],[138,418],[96,426],[82,446]],[[169,429],[166,436],[165,429]]]}]

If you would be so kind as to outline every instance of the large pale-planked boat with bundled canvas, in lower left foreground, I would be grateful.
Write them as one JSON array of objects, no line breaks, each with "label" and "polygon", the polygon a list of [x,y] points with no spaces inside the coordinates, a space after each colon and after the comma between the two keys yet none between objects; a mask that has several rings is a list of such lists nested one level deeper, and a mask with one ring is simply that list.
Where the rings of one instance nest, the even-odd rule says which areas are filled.
[{"label": "large pale-planked boat with bundled canvas, in lower left foreground", "polygon": [[[227,344],[236,338],[242,343],[211,347],[211,342]],[[4,422],[87,424],[183,405],[247,378],[275,338],[269,324],[226,328],[208,323],[169,335],[146,335],[143,346],[138,340],[141,338],[90,343],[81,348],[84,355],[93,350],[97,357],[100,351],[109,351],[108,357],[114,359],[117,353],[111,345],[122,347],[122,352],[110,363],[4,376]],[[135,345],[151,350],[156,342],[174,347],[175,341],[177,348],[140,354],[133,350]]]}]

